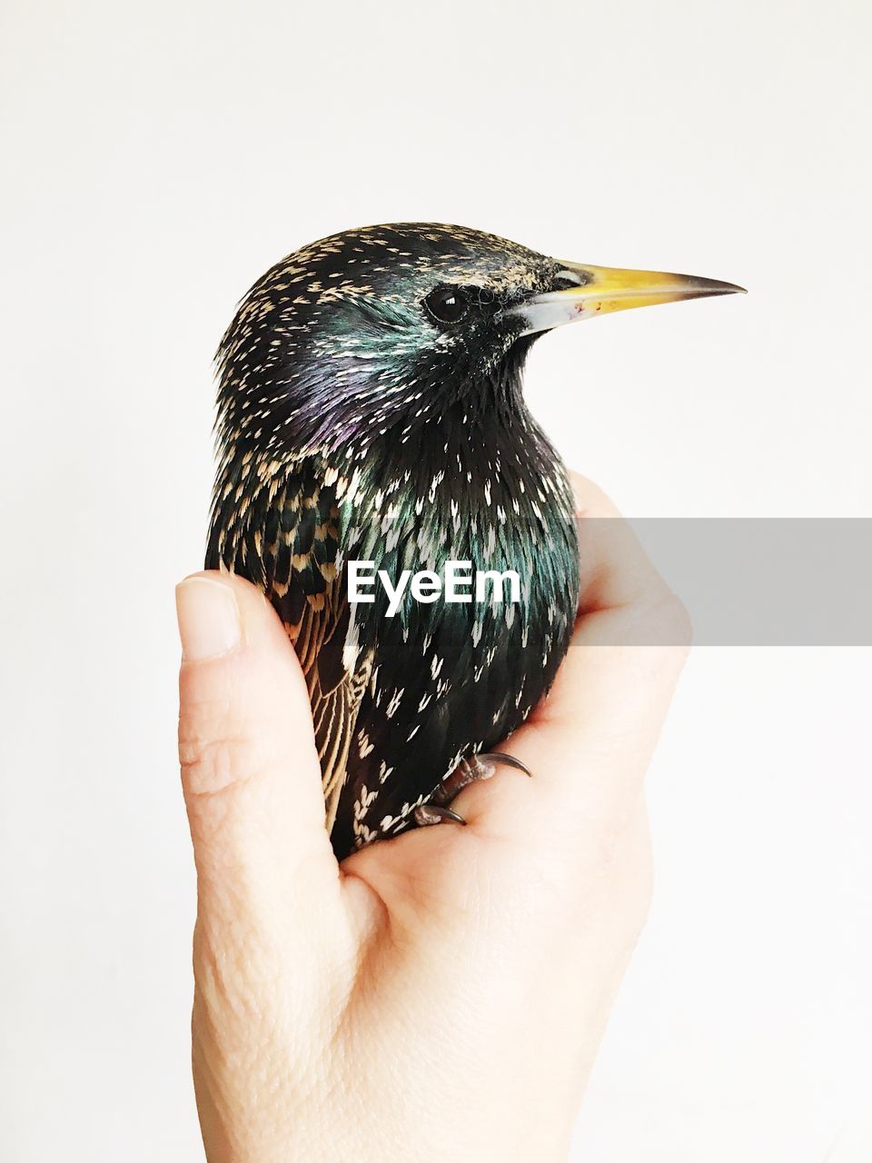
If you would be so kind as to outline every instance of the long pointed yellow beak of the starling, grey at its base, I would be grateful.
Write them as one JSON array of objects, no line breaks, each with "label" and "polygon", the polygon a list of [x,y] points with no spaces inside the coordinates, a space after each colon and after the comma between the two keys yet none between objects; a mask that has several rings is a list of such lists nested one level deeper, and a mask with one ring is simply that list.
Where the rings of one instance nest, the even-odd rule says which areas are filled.
[{"label": "long pointed yellow beak of the starling, grey at its base", "polygon": [[658,302],[706,299],[716,294],[745,294],[744,287],[695,274],[665,271],[630,271],[587,263],[560,263],[556,281],[572,284],[535,295],[514,308],[526,320],[523,335],[545,331],[579,319],[595,319],[613,311],[652,307]]}]

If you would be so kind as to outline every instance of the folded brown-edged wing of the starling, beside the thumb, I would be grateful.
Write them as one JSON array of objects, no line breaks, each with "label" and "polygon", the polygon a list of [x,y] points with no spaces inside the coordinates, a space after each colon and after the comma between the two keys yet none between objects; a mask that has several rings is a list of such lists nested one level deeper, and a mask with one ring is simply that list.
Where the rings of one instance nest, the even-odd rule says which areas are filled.
[{"label": "folded brown-edged wing of the starling, beside the thumb", "polygon": [[336,490],[312,458],[290,472],[276,466],[274,477],[258,485],[253,495],[238,485],[216,495],[206,568],[223,565],[263,590],[294,644],[312,702],[329,829],[371,666],[367,655],[346,650]]}]

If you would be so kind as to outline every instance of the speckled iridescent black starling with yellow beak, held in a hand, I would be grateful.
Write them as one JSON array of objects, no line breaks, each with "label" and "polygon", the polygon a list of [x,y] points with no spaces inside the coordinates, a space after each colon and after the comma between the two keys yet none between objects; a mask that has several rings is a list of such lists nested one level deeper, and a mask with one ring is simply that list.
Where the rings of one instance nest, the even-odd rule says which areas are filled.
[{"label": "speckled iridescent black starling with yellow beak, held in a hand", "polygon": [[[258,586],[293,642],[337,859],[463,825],[463,786],[527,771],[494,749],[548,695],[580,586],[567,471],[522,391],[533,343],[742,290],[401,222],[305,245],[241,300],[216,355],[206,568]],[[470,579],[451,601],[434,594],[446,563]],[[372,585],[350,593],[364,565]],[[409,573],[430,585],[391,613]]]}]

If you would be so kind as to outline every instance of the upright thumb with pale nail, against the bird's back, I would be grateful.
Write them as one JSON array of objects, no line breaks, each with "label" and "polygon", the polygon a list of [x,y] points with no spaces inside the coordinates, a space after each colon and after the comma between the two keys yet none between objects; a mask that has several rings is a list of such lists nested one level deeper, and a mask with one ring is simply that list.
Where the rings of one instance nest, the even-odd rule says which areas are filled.
[{"label": "upright thumb with pale nail, against the bird's back", "polygon": [[339,873],[293,647],[263,594],[234,575],[193,575],[176,598],[179,758],[200,916],[229,909],[258,925],[295,911],[306,929],[317,918],[323,932]]}]

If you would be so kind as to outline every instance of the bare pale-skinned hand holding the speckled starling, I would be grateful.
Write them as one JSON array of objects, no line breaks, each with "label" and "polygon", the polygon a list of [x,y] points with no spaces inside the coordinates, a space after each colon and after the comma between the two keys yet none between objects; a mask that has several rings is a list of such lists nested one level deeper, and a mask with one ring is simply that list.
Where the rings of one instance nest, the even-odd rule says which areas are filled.
[{"label": "bare pale-skinned hand holding the speckled starling", "polygon": [[[617,518],[573,478],[579,514]],[[621,520],[580,523],[572,645],[501,770],[336,864],[306,686],[240,578],[178,588],[209,1163],[565,1161],[648,912],[643,777],[687,615]]]}]

